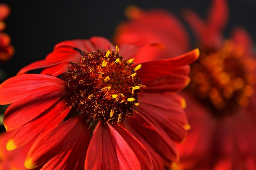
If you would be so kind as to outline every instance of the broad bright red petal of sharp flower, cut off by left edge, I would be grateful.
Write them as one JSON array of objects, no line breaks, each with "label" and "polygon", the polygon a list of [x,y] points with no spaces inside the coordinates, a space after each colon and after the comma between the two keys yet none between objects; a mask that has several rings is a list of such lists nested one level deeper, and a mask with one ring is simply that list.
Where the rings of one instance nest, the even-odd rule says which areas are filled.
[{"label": "broad bright red petal of sharp flower, cut off by left edge", "polygon": [[47,93],[51,89],[62,93],[65,88],[66,82],[53,76],[22,74],[0,84],[0,104],[10,104],[30,95]]}]

